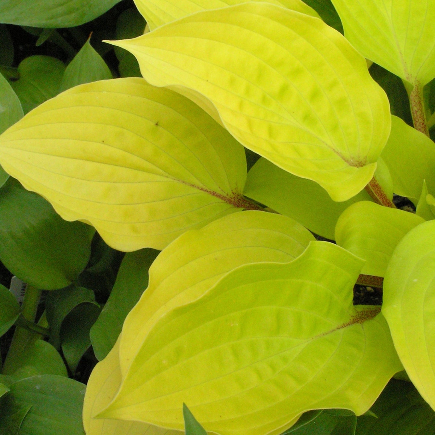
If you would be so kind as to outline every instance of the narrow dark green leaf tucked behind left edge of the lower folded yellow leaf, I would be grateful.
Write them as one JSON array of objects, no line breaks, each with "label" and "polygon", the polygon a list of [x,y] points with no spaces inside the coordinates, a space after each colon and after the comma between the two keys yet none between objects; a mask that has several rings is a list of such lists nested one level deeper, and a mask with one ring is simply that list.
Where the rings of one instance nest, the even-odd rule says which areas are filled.
[{"label": "narrow dark green leaf tucked behind left edge of the lower folded yellow leaf", "polygon": [[125,254],[109,299],[90,329],[92,348],[99,361],[114,347],[125,317],[147,288],[148,269],[157,254],[149,248]]}]

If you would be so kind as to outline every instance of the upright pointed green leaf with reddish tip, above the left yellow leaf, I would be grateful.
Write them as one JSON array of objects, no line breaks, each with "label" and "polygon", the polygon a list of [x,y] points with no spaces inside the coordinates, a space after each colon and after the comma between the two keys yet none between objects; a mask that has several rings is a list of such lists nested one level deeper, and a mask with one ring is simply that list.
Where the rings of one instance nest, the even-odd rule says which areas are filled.
[{"label": "upright pointed green leaf with reddish tip, above the left yellow leaf", "polygon": [[62,77],[59,92],[79,84],[111,78],[112,73],[109,67],[103,58],[92,48],[90,39],[88,39],[67,66]]}]

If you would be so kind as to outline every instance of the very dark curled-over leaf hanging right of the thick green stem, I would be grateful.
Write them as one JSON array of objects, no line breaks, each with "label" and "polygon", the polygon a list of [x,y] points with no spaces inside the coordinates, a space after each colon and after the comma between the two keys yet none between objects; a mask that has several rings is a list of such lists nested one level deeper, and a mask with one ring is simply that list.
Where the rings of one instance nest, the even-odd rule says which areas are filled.
[{"label": "very dark curled-over leaf hanging right of the thick green stem", "polygon": [[74,307],[62,321],[60,341],[68,367],[75,373],[80,359],[90,347],[89,331],[100,314],[95,304],[80,304]]}]

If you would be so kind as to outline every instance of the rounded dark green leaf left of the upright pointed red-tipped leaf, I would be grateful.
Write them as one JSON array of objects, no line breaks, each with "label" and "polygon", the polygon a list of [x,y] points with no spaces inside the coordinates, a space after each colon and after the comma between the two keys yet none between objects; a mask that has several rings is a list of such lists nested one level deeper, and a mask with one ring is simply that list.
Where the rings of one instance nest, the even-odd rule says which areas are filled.
[{"label": "rounded dark green leaf left of the upright pointed red-tipped leaf", "polygon": [[18,65],[20,78],[10,85],[25,114],[58,93],[64,70],[65,65],[59,59],[49,56],[26,57]]}]

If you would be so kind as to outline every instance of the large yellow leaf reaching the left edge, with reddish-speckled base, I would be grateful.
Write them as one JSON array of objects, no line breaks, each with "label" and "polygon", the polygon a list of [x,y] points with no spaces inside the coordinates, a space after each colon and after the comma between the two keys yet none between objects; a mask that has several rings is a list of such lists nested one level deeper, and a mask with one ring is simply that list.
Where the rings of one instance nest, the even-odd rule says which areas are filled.
[{"label": "large yellow leaf reaching the left edge, with reddish-speckled base", "polygon": [[80,85],[0,136],[0,163],[110,246],[164,248],[187,229],[256,207],[243,147],[187,98],[140,78]]}]

